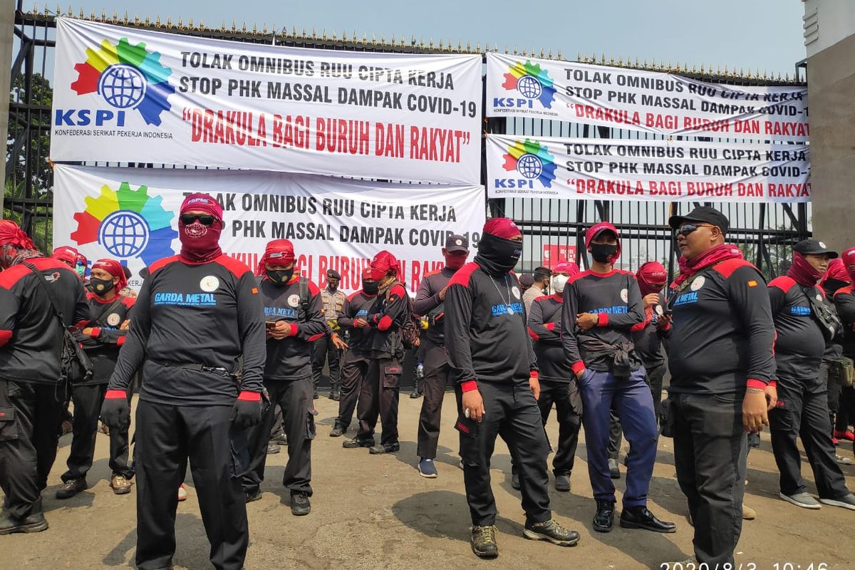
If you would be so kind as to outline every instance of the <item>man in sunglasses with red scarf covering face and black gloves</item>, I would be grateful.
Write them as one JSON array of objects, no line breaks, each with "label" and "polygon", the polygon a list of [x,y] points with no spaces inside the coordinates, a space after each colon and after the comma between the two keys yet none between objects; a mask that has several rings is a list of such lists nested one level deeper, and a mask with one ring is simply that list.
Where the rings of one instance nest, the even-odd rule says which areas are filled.
[{"label": "man in sunglasses with red scarf covering face and black gloves", "polygon": [[180,255],[150,266],[101,408],[111,429],[127,426],[126,390],[141,367],[134,455],[140,570],[172,566],[175,489],[188,457],[210,561],[217,570],[244,567],[249,529],[240,476],[245,430],[262,420],[264,320],[255,275],[220,249],[222,227],[214,198],[185,198]]}]

